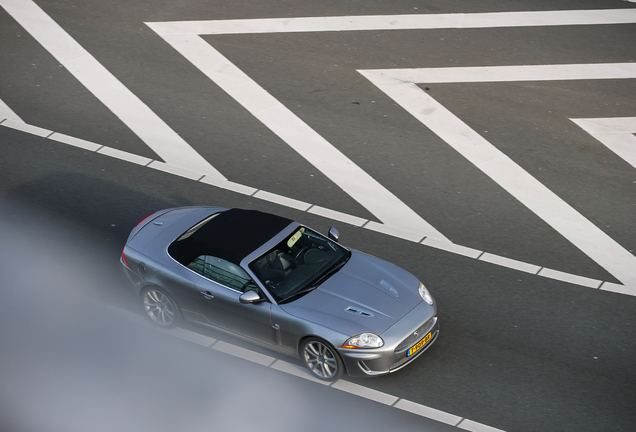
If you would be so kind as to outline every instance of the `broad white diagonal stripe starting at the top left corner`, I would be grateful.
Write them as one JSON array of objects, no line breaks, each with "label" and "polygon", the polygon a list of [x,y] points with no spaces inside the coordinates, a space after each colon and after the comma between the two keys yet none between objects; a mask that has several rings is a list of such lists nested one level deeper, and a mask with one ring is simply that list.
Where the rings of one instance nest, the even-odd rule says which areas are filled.
[{"label": "broad white diagonal stripe starting at the top left corner", "polygon": [[225,179],[32,0],[0,5],[167,163]]}]

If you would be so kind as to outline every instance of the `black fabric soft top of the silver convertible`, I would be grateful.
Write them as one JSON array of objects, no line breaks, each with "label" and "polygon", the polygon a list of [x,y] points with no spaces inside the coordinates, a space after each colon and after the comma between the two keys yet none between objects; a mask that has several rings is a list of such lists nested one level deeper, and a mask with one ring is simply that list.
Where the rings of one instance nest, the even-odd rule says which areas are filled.
[{"label": "black fabric soft top of the silver convertible", "polygon": [[173,242],[168,253],[186,266],[201,255],[240,264],[292,222],[257,210],[230,209],[207,221],[189,237]]}]

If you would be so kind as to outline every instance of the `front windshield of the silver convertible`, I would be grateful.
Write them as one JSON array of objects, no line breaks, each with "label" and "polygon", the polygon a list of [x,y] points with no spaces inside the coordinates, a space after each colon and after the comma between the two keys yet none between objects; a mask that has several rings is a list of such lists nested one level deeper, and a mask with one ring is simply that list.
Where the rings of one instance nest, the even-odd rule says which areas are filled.
[{"label": "front windshield of the silver convertible", "polygon": [[350,256],[333,240],[300,227],[249,266],[276,302],[285,303],[316,288]]}]

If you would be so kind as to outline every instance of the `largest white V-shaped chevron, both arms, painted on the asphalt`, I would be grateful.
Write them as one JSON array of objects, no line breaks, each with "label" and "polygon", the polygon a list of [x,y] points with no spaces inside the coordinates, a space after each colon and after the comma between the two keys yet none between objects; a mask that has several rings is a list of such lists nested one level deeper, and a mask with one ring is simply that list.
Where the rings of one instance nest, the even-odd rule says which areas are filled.
[{"label": "largest white V-shaped chevron, both arms, painted on the asphalt", "polygon": [[450,241],[310,128],[201,35],[595,25],[636,22],[636,10],[377,15],[146,23],[291,148],[382,223],[366,228],[412,241]]}]

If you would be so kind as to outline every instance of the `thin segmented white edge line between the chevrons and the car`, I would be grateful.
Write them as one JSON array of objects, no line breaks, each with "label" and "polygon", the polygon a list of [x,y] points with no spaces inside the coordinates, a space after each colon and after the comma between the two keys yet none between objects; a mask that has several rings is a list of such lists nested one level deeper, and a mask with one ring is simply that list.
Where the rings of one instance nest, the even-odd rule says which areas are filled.
[{"label": "thin segmented white edge line between the chevrons and the car", "polygon": [[[0,122],[0,125],[4,126],[4,122]],[[26,128],[27,130],[24,130],[23,132],[26,133],[30,133],[29,131],[33,130],[33,131],[38,131],[40,128],[37,127],[33,127],[33,129],[31,128]],[[54,139],[54,136],[56,135],[61,135],[58,134],[57,132],[53,133],[52,135],[49,136],[49,139]],[[69,137],[72,138],[72,137]],[[132,153],[127,153],[121,150],[117,150],[117,149],[113,149],[110,147],[106,147],[106,146],[101,146],[98,144],[94,144],[94,143],[90,143],[89,141],[84,141],[84,140],[78,140],[78,141],[83,141],[82,145],[77,146],[75,140],[77,140],[77,138],[73,138],[73,139],[65,139],[65,140],[57,140],[58,142],[64,143],[64,144],[69,144],[73,147],[79,147],[82,149],[87,149],[87,147],[92,147],[92,148],[99,148],[100,151],[97,151],[96,153],[100,153],[106,156],[110,156],[110,157],[114,157],[116,159],[120,159],[120,160],[124,160],[127,162],[132,162],[132,163],[136,163],[138,165],[144,165],[144,162],[146,162],[146,158],[142,158],[141,156],[132,154]],[[87,144],[86,144],[87,143]],[[92,146],[90,144],[93,144]],[[169,174],[173,174],[173,175],[177,175],[180,177],[184,177],[190,180],[195,180],[195,177],[198,176],[198,174],[196,173],[192,173],[190,171],[187,170],[182,170],[182,169],[174,169],[174,167],[165,167],[163,165],[165,165],[163,162],[159,162],[159,161],[151,161],[151,164],[160,164],[160,165],[155,165],[154,168],[157,169],[157,166],[162,166],[163,169],[160,169],[160,171],[169,173]],[[148,165],[148,164],[146,164]],[[219,187],[225,190],[229,190],[232,192],[236,192],[236,193],[240,193],[243,195],[249,195],[249,196],[254,196],[255,198],[259,198],[259,196],[257,196],[258,192],[264,192],[264,196],[266,197],[271,197],[271,196],[276,196],[276,197],[280,197],[280,198],[285,198],[285,197],[281,197],[280,195],[276,195],[276,194],[272,194],[270,192],[266,192],[266,191],[260,191],[259,189],[255,189],[252,188],[250,186],[245,186],[245,185],[241,185],[238,183],[232,183],[229,181],[222,181],[222,180],[218,180],[218,179],[213,179],[210,180],[207,177],[203,177],[200,178],[198,180],[200,183],[206,183],[206,184],[210,184],[212,186],[215,187]],[[263,195],[260,195],[263,196]],[[268,200],[271,202],[271,200]],[[308,213],[314,213],[323,217],[327,217],[327,218],[333,218],[334,220],[340,221],[340,222],[344,222],[344,223],[348,223],[351,224],[353,226],[357,226],[360,227],[362,226],[363,228],[366,229],[370,229],[372,231],[376,231],[376,232],[380,232],[383,234],[387,234],[396,238],[401,238],[407,241],[413,241],[413,242],[418,242],[420,235],[418,234],[414,234],[414,233],[407,233],[404,231],[400,231],[398,229],[395,228],[391,228],[391,227],[387,227],[386,225],[382,225],[382,224],[378,224],[376,222],[367,222],[366,220],[362,219],[362,218],[358,218],[356,216],[352,216],[352,215],[347,215],[345,213],[341,213],[335,210],[330,210],[330,209],[324,209],[322,207],[318,207],[318,206],[314,206],[311,204],[307,204],[307,203],[302,203],[301,201],[297,201],[291,198],[286,198],[286,199],[281,199],[280,202],[278,202],[278,204],[283,205],[283,206],[287,206],[287,204],[292,204],[291,208],[295,208],[298,209],[299,207],[306,207],[306,206],[310,206],[307,211]],[[318,209],[316,211],[312,212],[312,209]],[[367,222],[366,225],[363,222]],[[375,225],[373,225],[375,224]],[[466,246],[461,246],[458,244],[454,244],[454,243],[449,243],[447,241],[440,241],[440,240],[436,240],[436,239],[431,239],[431,238],[425,238],[423,241],[421,241],[421,244],[425,245],[425,246],[429,246],[429,247],[433,247],[435,249],[440,249],[440,250],[444,250],[446,252],[449,253],[453,253],[456,255],[462,255],[468,258],[473,258],[473,259],[478,259],[480,258],[482,255],[486,254],[486,252],[480,251],[480,250],[476,250],[476,249],[472,249]],[[496,255],[492,255],[489,254],[491,257],[497,257]],[[513,267],[511,265],[508,265],[508,261],[506,260],[510,260],[509,258],[504,258],[504,257],[499,257],[501,258],[501,260],[493,258],[490,262],[492,264],[495,265],[503,265],[504,267],[508,267],[508,268],[516,268]],[[513,260],[515,263],[522,263],[521,261],[516,261]],[[500,264],[501,263],[501,264]],[[526,266],[530,266],[530,267],[534,267],[534,268],[541,268],[539,266],[535,266],[534,264],[527,264],[527,263],[522,263],[525,264]],[[528,268],[530,268],[528,267]],[[560,271],[556,271],[556,270],[550,270],[550,269],[544,269],[545,271],[539,272],[538,276],[543,276],[543,277],[547,277],[550,279],[556,279],[556,280],[560,280],[563,282],[568,282],[568,283],[572,283],[572,284],[576,284],[576,285],[581,285],[581,286],[585,286],[585,287],[590,287],[593,284],[595,284],[596,282],[600,281],[596,281],[595,279],[590,279],[590,278],[586,278],[583,276],[577,276],[577,275],[573,275],[573,274],[569,274],[569,273],[564,273],[564,272],[560,272]],[[611,291],[611,292],[615,292],[615,293],[619,293],[619,294],[626,294],[626,295],[632,295],[632,296],[636,296],[636,286],[634,287],[626,287],[624,285],[619,285],[619,284],[615,284],[615,283],[610,283],[610,282],[604,282],[603,285],[601,286],[601,290],[605,290],[605,291]]]}]

